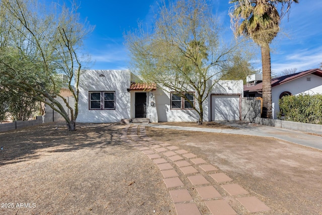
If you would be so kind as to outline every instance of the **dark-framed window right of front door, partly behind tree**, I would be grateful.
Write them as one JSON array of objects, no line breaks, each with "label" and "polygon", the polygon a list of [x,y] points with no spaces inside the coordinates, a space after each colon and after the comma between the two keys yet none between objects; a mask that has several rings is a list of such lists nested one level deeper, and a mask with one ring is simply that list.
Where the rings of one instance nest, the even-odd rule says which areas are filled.
[{"label": "dark-framed window right of front door, partly behind tree", "polygon": [[193,109],[195,105],[194,93],[185,93],[184,95],[185,97],[181,97],[175,93],[171,93],[171,109]]}]

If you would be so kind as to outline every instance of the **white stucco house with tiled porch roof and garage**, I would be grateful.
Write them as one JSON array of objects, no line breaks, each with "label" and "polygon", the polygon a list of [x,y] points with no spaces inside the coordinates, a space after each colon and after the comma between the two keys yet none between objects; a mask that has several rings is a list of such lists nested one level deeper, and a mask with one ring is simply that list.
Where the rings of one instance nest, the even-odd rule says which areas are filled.
[{"label": "white stucco house with tiled porch roof and garage", "polygon": [[[84,70],[78,89],[77,122],[120,122],[131,118],[196,122],[199,118],[184,98],[140,82],[129,70]],[[196,104],[195,92],[187,93]],[[204,121],[239,120],[242,97],[243,81],[219,81],[203,103]]]}]

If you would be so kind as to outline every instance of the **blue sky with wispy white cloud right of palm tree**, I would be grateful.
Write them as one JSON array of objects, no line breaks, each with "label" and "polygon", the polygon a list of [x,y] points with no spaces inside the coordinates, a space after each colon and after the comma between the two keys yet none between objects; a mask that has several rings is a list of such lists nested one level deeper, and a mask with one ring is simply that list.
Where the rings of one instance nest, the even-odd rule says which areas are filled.
[{"label": "blue sky with wispy white cloud right of palm tree", "polygon": [[284,17],[281,32],[271,44],[274,73],[289,68],[302,71],[319,67],[322,62],[321,10],[322,4],[316,0],[300,1],[292,5],[289,19]]}]

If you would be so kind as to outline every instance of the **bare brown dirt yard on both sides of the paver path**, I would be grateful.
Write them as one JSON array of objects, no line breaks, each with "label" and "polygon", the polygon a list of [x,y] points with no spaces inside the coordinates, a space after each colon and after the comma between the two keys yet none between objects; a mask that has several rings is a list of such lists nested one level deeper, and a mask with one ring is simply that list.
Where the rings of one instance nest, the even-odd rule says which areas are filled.
[{"label": "bare brown dirt yard on both sides of the paver path", "polygon": [[[120,138],[123,128],[45,124],[0,133],[0,214],[175,214],[159,169]],[[147,135],[225,172],[271,208],[258,214],[322,214],[322,151],[246,135]]]}]

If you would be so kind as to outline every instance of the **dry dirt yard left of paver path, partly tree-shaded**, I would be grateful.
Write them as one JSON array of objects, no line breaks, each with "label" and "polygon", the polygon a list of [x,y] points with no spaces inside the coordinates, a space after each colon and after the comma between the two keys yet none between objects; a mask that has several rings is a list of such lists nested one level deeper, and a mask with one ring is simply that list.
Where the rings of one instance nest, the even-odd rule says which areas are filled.
[{"label": "dry dirt yard left of paver path, partly tree-shaded", "polygon": [[120,140],[124,125],[56,126],[0,133],[0,214],[174,212],[157,166]]}]

